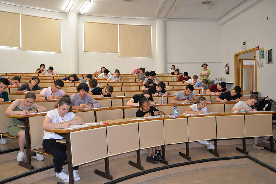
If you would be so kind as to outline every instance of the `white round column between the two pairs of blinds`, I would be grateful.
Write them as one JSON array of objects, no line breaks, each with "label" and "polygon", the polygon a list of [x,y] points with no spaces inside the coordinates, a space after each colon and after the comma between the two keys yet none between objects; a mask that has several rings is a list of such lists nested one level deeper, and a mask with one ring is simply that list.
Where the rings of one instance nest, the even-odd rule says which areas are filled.
[{"label": "white round column between the two pairs of blinds", "polygon": [[67,73],[79,73],[78,13],[66,13]]}]

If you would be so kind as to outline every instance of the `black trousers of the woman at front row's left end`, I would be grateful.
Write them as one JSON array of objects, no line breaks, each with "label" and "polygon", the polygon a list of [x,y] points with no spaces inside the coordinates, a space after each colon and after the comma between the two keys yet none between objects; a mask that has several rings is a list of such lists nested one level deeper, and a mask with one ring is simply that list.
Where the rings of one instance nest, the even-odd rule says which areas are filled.
[{"label": "black trousers of the woman at front row's left end", "polygon": [[[49,152],[54,157],[53,163],[55,166],[55,172],[61,172],[62,165],[67,156],[66,146],[63,144],[57,143],[56,140],[60,140],[60,139],[45,139],[45,140],[43,140],[42,145],[43,145],[43,148],[45,149],[45,151]],[[73,167],[74,170],[76,170],[78,168],[79,168],[79,166]]]}]

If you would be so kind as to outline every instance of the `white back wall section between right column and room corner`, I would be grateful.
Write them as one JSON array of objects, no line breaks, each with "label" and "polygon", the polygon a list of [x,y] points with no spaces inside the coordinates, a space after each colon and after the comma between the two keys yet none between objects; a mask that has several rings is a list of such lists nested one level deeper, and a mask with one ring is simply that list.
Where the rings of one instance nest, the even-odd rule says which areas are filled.
[{"label": "white back wall section between right column and room corner", "polygon": [[[199,76],[201,65],[207,63],[210,80],[222,77],[221,35],[221,26],[217,26],[217,22],[166,21],[167,72],[174,64],[180,73]],[[230,79],[227,81],[233,82]]]}]

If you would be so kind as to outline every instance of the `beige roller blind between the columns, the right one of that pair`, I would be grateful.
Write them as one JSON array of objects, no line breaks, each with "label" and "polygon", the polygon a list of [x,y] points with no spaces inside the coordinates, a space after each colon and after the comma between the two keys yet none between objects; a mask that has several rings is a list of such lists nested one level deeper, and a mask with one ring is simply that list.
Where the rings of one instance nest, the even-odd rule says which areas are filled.
[{"label": "beige roller blind between the columns, the right one of that pair", "polygon": [[120,57],[152,57],[151,26],[119,25]]}]

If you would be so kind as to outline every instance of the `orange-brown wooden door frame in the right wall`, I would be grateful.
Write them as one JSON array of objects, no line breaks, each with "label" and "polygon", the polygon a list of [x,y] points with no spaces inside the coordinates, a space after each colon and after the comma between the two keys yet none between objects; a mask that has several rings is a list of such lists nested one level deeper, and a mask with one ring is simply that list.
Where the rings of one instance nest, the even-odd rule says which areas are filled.
[{"label": "orange-brown wooden door frame in the right wall", "polygon": [[[234,67],[235,67],[235,71],[234,71],[234,74],[235,74],[235,86],[240,86],[241,87],[241,94],[243,94],[243,84],[240,83],[240,77],[242,77],[242,70],[241,70],[241,73],[239,72],[240,71],[240,60],[239,60],[239,55],[240,54],[244,54],[244,53],[247,53],[247,52],[251,52],[251,51],[255,51],[255,90],[257,91],[257,57],[256,57],[256,48],[252,48],[252,49],[249,49],[249,50],[244,50],[242,52],[238,52],[236,54],[234,54]],[[242,78],[241,78],[242,79]]]}]

